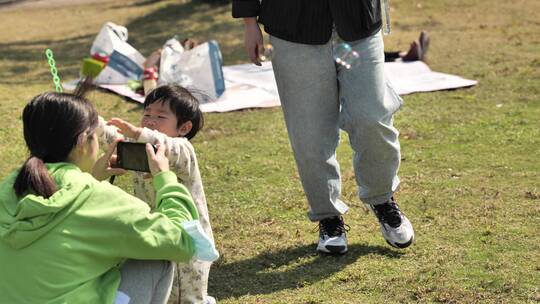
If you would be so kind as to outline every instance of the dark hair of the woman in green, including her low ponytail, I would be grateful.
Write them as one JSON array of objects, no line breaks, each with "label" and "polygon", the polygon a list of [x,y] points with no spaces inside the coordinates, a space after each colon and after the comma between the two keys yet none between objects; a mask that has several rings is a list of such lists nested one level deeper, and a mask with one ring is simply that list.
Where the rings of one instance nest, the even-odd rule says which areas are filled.
[{"label": "dark hair of the woman in green, including her low ponytail", "polygon": [[96,128],[96,109],[81,96],[43,93],[24,107],[22,120],[30,157],[21,167],[13,190],[19,197],[35,193],[49,198],[58,187],[45,163],[68,161],[79,136]]}]

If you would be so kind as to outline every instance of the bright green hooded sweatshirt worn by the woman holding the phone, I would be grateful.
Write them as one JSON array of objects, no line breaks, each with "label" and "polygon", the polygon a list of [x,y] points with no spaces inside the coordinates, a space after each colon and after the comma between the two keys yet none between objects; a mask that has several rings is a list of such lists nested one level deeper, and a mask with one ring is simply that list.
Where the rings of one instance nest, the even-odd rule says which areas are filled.
[{"label": "bright green hooded sweatshirt worn by the woman holding the phone", "polygon": [[0,184],[0,303],[113,303],[125,259],[188,261],[181,223],[198,219],[172,172],[154,177],[156,210],[69,163],[47,164],[58,191],[17,197]]}]

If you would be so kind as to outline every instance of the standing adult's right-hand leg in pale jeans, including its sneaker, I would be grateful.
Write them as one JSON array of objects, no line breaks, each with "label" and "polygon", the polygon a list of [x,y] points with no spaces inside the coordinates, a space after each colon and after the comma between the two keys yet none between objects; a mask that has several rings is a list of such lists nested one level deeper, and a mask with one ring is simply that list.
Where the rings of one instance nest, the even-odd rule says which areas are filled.
[{"label": "standing adult's right-hand leg in pale jeans, including its sneaker", "polygon": [[357,67],[339,71],[341,122],[354,150],[354,169],[360,199],[379,220],[386,241],[405,248],[414,240],[409,219],[393,199],[399,185],[398,131],[392,115],[401,98],[384,77],[381,34],[351,43],[360,54]]}]

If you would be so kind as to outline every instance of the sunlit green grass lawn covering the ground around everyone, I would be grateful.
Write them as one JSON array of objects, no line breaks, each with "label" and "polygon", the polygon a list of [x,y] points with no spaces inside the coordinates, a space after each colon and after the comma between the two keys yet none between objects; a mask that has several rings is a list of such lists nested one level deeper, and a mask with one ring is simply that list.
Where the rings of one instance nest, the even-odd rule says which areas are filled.
[{"label": "sunlit green grass lawn covering the ground around everyone", "polygon": [[[47,47],[63,79],[78,75],[106,21],[125,25],[144,54],[179,34],[217,40],[225,64],[247,61],[242,23],[229,5],[181,2],[0,10],[0,177],[26,157],[23,106],[52,89]],[[316,225],[306,219],[280,109],[207,114],[194,145],[222,253],[209,286],[220,303],[540,302],[540,2],[392,6],[388,50],[406,49],[428,30],[431,68],[479,81],[405,96],[396,116],[403,151],[397,198],[417,242],[403,251],[386,245],[356,196],[343,133],[338,157],[352,207],[350,251],[316,254]],[[111,94],[90,98],[104,117],[137,122],[141,114],[139,105]],[[118,184],[131,189],[127,177]]]}]

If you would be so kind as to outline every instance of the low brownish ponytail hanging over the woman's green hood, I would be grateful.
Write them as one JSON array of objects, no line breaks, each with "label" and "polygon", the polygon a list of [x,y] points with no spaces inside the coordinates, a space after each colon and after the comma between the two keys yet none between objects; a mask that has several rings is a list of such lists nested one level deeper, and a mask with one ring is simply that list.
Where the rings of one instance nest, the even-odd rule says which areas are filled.
[{"label": "low brownish ponytail hanging over the woman's green hood", "polygon": [[49,175],[43,160],[30,156],[19,171],[13,189],[17,196],[31,190],[37,195],[49,198],[56,192],[56,183]]}]

